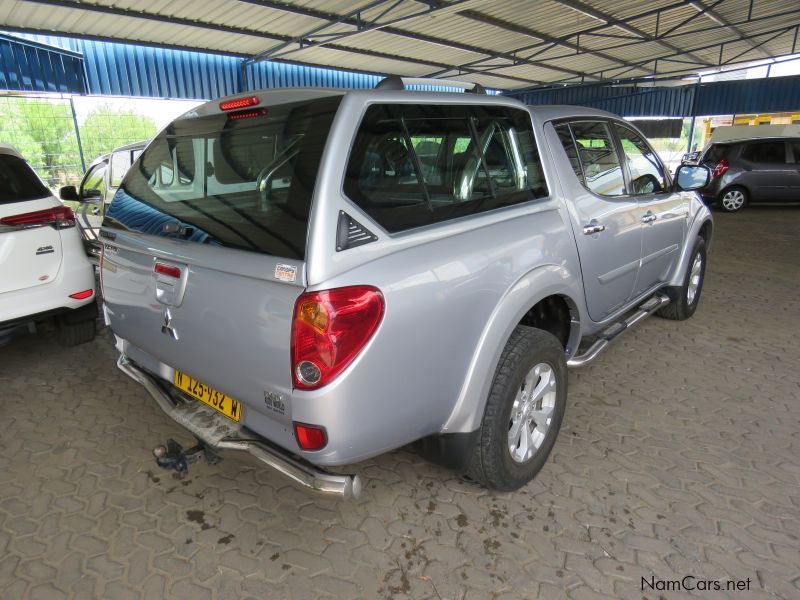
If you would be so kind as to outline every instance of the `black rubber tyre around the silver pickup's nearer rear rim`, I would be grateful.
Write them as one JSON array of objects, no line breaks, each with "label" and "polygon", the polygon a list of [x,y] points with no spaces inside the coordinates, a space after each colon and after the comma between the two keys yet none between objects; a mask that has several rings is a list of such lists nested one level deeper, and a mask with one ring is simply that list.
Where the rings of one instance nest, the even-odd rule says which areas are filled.
[{"label": "black rubber tyre around the silver pickup's nearer rear rim", "polygon": [[[518,462],[512,458],[508,442],[514,401],[522,391],[526,375],[540,364],[550,367],[549,376],[555,381],[554,398],[550,395],[554,404],[552,416],[547,432],[533,455]],[[537,382],[544,382],[544,379],[538,379]],[[501,491],[516,490],[531,481],[553,449],[566,403],[567,362],[564,347],[546,331],[517,326],[497,365],[468,475],[488,488]]]}]

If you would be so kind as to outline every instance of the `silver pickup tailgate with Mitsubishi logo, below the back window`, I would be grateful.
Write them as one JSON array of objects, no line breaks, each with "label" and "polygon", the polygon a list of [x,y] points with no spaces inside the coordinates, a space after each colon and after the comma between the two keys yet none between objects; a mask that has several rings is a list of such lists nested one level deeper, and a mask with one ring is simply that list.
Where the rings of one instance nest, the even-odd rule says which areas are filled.
[{"label": "silver pickup tailgate with Mitsubishi logo, below the back window", "polygon": [[[104,246],[103,294],[114,333],[243,403],[245,424],[257,411],[290,428],[291,415],[268,408],[265,395],[291,393],[291,319],[303,263],[166,240],[155,251],[149,237],[118,234]],[[156,264],[177,268],[180,277],[164,276]],[[276,272],[284,279],[294,272],[295,281]]]}]

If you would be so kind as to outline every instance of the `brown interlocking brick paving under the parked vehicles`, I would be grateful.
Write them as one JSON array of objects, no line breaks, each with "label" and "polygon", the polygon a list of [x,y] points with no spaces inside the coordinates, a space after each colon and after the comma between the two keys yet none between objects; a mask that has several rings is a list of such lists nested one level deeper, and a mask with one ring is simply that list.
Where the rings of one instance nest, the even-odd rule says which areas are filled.
[{"label": "brown interlocking brick paving under the parked vehicles", "polygon": [[0,349],[0,598],[674,598],[641,578],[800,597],[800,209],[717,215],[702,302],[570,375],[539,477],[494,494],[416,455],[360,464],[356,502],[189,441],[105,338]]}]

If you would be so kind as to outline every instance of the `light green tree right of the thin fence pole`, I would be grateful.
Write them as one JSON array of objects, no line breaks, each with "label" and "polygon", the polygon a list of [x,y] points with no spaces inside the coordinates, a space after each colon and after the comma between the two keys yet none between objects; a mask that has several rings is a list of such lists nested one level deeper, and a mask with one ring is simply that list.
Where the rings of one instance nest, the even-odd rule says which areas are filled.
[{"label": "light green tree right of the thin fence pole", "polygon": [[152,138],[157,129],[155,122],[148,117],[103,106],[89,113],[80,126],[80,132],[83,155],[88,165],[114,148]]}]

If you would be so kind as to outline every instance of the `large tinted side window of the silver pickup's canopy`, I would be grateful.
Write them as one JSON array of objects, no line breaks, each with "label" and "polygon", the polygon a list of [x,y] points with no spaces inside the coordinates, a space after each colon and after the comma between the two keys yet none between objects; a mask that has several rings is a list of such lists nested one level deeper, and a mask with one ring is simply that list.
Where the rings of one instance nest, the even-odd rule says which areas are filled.
[{"label": "large tinted side window of the silver pickup's canopy", "polygon": [[389,232],[548,195],[530,116],[490,106],[370,106],[344,191]]}]

